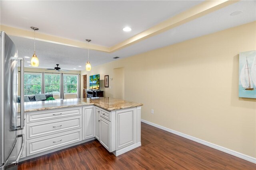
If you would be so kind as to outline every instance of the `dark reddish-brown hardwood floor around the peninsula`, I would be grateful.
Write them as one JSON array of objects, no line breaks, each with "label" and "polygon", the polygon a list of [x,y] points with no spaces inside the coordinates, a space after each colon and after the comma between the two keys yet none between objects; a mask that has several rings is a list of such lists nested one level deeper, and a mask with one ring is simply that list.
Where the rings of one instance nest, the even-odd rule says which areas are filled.
[{"label": "dark reddish-brown hardwood floor around the peninsula", "polygon": [[26,160],[18,170],[256,170],[256,164],[142,123],[142,146],[118,157],[97,141]]}]

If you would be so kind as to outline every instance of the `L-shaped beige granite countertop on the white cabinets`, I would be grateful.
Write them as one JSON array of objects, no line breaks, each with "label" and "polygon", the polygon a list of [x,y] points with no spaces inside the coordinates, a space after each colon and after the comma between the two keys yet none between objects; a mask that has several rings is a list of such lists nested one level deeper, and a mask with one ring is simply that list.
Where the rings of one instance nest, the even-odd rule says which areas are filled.
[{"label": "L-shaped beige granite countertop on the white cabinets", "polygon": [[115,98],[105,98],[105,97],[50,100],[50,101],[24,103],[25,112],[42,111],[42,110],[58,109],[58,108],[65,108],[65,107],[86,106],[86,105],[95,105],[95,106],[101,107],[102,109],[112,111],[112,110],[142,106],[143,104],[136,103],[136,102],[128,102],[125,100],[120,100]]}]

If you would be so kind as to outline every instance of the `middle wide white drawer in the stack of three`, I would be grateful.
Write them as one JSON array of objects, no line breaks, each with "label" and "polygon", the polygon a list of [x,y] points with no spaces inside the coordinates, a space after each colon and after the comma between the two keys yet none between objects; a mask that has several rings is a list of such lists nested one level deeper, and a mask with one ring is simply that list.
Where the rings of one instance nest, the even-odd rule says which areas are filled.
[{"label": "middle wide white drawer in the stack of three", "polygon": [[80,128],[81,124],[82,124],[81,116],[66,117],[62,119],[28,123],[26,125],[27,139],[38,137],[38,136],[50,135],[51,133]]}]

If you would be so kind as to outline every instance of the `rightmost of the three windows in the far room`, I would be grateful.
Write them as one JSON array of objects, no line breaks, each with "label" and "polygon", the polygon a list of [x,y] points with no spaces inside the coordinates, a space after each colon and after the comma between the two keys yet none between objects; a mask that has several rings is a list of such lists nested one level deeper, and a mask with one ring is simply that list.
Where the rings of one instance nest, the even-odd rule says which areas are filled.
[{"label": "rightmost of the three windows in the far room", "polygon": [[64,94],[77,93],[77,75],[63,74]]}]

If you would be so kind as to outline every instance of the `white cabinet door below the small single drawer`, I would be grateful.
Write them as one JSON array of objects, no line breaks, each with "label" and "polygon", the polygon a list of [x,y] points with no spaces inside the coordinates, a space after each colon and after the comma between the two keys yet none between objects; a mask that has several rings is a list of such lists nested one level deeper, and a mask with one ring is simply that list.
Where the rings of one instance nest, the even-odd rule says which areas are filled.
[{"label": "white cabinet door below the small single drawer", "polygon": [[100,143],[110,151],[110,121],[100,117]]}]

